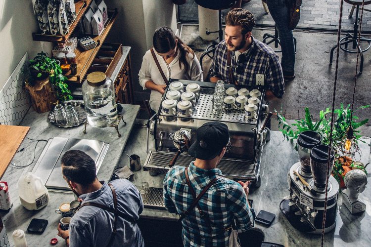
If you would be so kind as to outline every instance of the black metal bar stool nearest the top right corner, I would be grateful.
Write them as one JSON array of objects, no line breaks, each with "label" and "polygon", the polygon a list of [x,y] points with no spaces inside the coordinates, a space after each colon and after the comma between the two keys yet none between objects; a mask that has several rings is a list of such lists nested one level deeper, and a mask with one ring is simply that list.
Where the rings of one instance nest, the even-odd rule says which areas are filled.
[{"label": "black metal bar stool nearest the top right corner", "polygon": [[[357,49],[357,46],[358,46],[359,10],[360,10],[360,6],[362,5],[362,0],[344,0],[344,1],[349,3],[349,4],[356,5],[356,18],[354,20],[354,25],[353,25],[353,34],[347,33],[345,35],[345,37],[340,40],[340,49],[342,49],[345,52],[349,52],[349,53],[357,53],[358,51],[354,50],[354,49]],[[371,3],[371,0],[365,0],[365,5],[368,5],[370,3]],[[361,44],[358,47],[358,49],[360,51],[360,55],[361,55],[360,73],[362,73],[362,71],[363,71],[363,52],[366,52],[370,49],[371,39],[366,39],[366,38],[361,36],[360,37],[360,42],[361,41],[366,41],[366,42],[368,42],[369,45],[365,49],[361,48]],[[348,49],[348,43],[353,43],[352,50]],[[344,46],[344,47],[342,47],[342,46]],[[334,45],[331,48],[330,64],[332,64],[333,52],[334,52],[335,48],[336,48],[336,45]]]}]

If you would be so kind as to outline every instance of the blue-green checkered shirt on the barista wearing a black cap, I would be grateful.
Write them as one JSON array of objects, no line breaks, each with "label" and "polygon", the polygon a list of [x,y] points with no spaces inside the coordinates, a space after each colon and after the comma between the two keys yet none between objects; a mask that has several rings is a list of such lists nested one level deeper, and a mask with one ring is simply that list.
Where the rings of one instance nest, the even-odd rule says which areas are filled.
[{"label": "blue-green checkered shirt on the barista wearing a black cap", "polygon": [[[223,177],[215,168],[205,170],[191,162],[188,169],[189,181],[198,196],[214,177],[218,177],[198,204],[213,224],[201,218],[197,206],[185,216],[183,244],[185,247],[226,247],[229,241],[229,228],[233,218],[238,232],[248,230],[253,225],[253,214],[248,206],[246,194],[237,182]],[[185,167],[174,166],[164,179],[164,201],[169,212],[181,214],[193,202],[185,179]]]}]

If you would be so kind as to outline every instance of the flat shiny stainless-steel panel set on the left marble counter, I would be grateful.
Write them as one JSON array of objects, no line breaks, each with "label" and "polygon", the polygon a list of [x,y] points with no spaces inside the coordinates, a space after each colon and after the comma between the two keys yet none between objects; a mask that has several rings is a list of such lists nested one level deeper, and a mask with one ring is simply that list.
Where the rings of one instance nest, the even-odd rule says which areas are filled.
[{"label": "flat shiny stainless-steel panel set on the left marble counter", "polygon": [[61,159],[64,153],[68,150],[85,152],[95,162],[98,173],[108,147],[109,144],[104,141],[54,137],[48,140],[32,173],[40,177],[48,189],[70,191],[62,175]]}]

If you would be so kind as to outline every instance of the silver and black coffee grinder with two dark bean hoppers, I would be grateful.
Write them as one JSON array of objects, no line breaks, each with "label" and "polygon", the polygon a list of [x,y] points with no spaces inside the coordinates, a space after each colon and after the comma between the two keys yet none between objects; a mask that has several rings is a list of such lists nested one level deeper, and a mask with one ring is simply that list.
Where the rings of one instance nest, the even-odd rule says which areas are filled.
[{"label": "silver and black coffee grinder with two dark bean hoppers", "polygon": [[[321,136],[315,131],[304,131],[298,136],[300,162],[292,165],[287,173],[290,195],[280,203],[280,210],[294,228],[314,234],[322,233],[329,149],[327,145],[319,144]],[[325,232],[336,225],[339,184],[330,175],[333,163],[334,151],[331,149]]]}]

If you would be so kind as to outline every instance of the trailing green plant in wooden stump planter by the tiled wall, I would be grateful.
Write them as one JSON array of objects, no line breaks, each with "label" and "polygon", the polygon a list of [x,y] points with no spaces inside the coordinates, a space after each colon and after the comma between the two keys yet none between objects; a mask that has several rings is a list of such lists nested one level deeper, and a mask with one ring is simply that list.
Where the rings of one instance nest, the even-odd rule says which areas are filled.
[{"label": "trailing green plant in wooden stump planter by the tiled wall", "polygon": [[59,61],[47,56],[45,52],[38,53],[34,59],[29,61],[30,85],[35,81],[41,81],[49,77],[49,82],[53,86],[55,95],[58,100],[72,99],[71,91],[65,83],[67,78],[63,76]]}]

